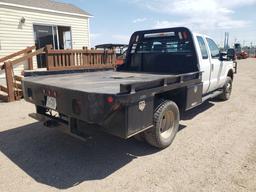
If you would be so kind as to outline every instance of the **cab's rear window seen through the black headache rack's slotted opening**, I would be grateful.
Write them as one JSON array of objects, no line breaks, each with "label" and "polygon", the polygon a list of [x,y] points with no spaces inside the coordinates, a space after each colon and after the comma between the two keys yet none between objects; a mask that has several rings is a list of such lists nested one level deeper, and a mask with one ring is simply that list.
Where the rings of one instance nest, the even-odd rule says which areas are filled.
[{"label": "cab's rear window seen through the black headache rack's slotted opening", "polygon": [[186,32],[166,32],[144,34],[132,46],[131,53],[188,53],[192,52],[192,42]]}]

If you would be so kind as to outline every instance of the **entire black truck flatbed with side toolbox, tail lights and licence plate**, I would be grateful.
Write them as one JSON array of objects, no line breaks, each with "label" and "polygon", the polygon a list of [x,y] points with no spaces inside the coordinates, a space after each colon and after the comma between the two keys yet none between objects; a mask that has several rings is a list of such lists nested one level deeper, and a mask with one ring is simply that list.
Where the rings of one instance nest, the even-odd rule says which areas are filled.
[{"label": "entire black truck flatbed with side toolbox, tail lights and licence plate", "polygon": [[[194,87],[202,88],[199,71],[176,75],[116,71],[38,72],[25,77],[23,84],[25,98],[36,104],[38,114],[49,117],[49,109],[57,110],[61,117],[70,118],[66,122],[69,125],[72,119],[77,119],[78,123],[97,124],[102,131],[122,138],[131,137],[141,127],[145,130],[153,126],[148,114],[153,111],[155,95],[178,88],[191,87],[188,92],[194,91]],[[201,102],[198,100],[200,94],[201,91],[197,91],[196,97],[187,97],[186,109]],[[49,105],[53,97],[54,104]],[[138,115],[141,117],[137,119],[143,121],[130,120]],[[130,123],[126,125],[126,121]],[[83,123],[79,126],[88,127]]]}]

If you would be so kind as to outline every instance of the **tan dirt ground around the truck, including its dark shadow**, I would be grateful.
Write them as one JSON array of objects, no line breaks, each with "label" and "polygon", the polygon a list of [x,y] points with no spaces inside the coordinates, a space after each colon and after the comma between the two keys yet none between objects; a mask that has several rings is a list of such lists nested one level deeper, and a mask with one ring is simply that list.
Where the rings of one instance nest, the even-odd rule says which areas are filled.
[{"label": "tan dirt ground around the truck, including its dark shadow", "polygon": [[188,112],[158,151],[134,139],[82,142],[0,103],[0,191],[256,191],[256,59],[239,62],[232,98]]}]

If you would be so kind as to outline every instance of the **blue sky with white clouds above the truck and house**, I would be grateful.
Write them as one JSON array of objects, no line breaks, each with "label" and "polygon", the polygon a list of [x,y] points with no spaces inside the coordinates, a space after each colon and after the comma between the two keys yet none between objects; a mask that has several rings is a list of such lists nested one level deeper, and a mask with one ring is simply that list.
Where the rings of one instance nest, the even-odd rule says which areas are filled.
[{"label": "blue sky with white clouds above the truck and house", "polygon": [[72,3],[94,17],[91,43],[128,43],[141,29],[187,26],[212,36],[222,45],[256,45],[256,0],[59,0]]}]

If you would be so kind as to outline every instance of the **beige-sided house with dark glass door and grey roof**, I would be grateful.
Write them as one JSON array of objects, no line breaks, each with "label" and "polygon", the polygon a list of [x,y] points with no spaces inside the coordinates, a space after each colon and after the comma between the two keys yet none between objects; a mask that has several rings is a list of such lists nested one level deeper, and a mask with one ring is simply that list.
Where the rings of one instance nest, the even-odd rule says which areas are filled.
[{"label": "beige-sided house with dark glass door and grey roof", "polygon": [[[33,45],[90,47],[90,17],[79,7],[52,0],[0,0],[0,58]],[[44,68],[44,56],[37,56],[33,64]],[[26,63],[19,65],[22,69]]]}]

